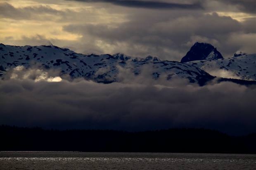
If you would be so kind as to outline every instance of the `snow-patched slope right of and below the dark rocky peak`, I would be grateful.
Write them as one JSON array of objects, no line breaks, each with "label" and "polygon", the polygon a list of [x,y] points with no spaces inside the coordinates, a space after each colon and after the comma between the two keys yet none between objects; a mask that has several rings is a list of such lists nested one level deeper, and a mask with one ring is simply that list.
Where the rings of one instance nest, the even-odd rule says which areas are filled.
[{"label": "snow-patched slope right of and below the dark rocky peak", "polygon": [[187,62],[213,76],[256,81],[256,54],[235,53],[233,57],[218,60]]}]

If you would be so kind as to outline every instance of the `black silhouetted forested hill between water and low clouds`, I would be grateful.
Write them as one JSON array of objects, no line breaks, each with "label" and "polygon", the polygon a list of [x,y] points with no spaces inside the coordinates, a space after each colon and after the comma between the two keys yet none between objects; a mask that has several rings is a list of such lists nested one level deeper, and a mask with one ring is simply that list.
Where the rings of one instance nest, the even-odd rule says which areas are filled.
[{"label": "black silhouetted forested hill between water and low clouds", "polygon": [[127,132],[0,126],[0,151],[256,153],[256,133],[228,136],[208,129]]}]

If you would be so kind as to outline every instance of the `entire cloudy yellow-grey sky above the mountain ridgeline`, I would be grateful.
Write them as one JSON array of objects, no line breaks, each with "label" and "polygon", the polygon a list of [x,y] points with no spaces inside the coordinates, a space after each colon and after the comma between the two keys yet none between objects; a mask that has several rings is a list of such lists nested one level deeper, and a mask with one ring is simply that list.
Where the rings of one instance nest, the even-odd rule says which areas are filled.
[{"label": "entire cloudy yellow-grey sky above the mountain ridgeline", "polygon": [[0,0],[0,42],[179,61],[195,42],[256,53],[254,0]]}]

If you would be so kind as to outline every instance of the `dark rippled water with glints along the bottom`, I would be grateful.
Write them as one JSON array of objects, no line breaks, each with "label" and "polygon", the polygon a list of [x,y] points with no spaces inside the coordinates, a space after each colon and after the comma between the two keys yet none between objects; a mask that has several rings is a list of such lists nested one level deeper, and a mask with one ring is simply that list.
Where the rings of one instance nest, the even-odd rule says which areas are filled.
[{"label": "dark rippled water with glints along the bottom", "polygon": [[0,152],[0,170],[256,170],[255,154]]}]

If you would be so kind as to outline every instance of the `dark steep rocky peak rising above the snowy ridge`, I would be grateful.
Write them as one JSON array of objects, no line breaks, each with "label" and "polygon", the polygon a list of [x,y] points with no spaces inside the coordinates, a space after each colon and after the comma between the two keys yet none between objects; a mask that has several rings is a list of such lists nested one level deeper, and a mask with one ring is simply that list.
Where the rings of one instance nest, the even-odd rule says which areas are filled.
[{"label": "dark steep rocky peak rising above the snowy ridge", "polygon": [[211,44],[195,43],[190,51],[181,59],[180,62],[190,62],[195,60],[216,60],[223,59],[223,56]]}]

